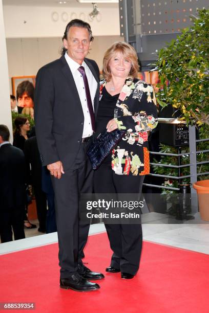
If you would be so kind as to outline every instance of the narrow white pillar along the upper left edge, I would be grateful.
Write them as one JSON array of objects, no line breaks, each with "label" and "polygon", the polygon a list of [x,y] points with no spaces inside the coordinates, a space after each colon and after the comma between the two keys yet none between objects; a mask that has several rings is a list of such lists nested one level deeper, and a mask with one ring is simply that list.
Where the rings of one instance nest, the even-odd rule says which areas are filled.
[{"label": "narrow white pillar along the upper left edge", "polygon": [[2,0],[0,0],[0,124],[5,124],[9,127],[12,141],[12,118],[11,118],[11,107],[10,107],[10,91],[9,91],[9,75],[8,75],[8,64],[7,64],[7,49],[5,40],[5,28],[4,28],[4,17]]}]

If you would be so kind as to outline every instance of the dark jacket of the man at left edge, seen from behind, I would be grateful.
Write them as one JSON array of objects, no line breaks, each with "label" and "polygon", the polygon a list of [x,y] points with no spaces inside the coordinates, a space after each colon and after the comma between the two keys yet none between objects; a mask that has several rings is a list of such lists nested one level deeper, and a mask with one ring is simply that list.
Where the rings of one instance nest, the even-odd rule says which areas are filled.
[{"label": "dark jacket of the man at left edge, seen from behind", "polygon": [[25,157],[11,144],[0,147],[0,208],[25,207]]}]

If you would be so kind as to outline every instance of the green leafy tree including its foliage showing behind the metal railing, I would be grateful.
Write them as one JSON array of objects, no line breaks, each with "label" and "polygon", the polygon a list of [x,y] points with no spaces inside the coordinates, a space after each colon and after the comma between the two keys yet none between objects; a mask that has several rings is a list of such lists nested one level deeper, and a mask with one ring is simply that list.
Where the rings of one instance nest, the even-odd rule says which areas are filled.
[{"label": "green leafy tree including its foliage showing behind the metal railing", "polygon": [[[191,17],[193,25],[182,30],[182,34],[176,40],[172,40],[168,46],[162,48],[158,53],[155,69],[159,73],[159,90],[157,101],[164,107],[171,103],[174,108],[180,110],[181,120],[187,125],[199,127],[200,139],[209,138],[209,10],[198,11],[198,17]],[[169,81],[169,84],[166,82]],[[186,150],[187,149],[187,150]],[[200,142],[198,150],[208,149],[208,142]],[[189,151],[185,148],[184,151]],[[161,145],[161,152],[176,153],[175,148]],[[197,155],[198,162],[207,161],[208,154]],[[189,157],[183,158],[184,164],[189,163]],[[157,161],[156,161],[157,163]],[[175,157],[162,157],[160,163],[177,164]],[[176,169],[154,166],[155,173],[177,175]],[[199,172],[208,172],[208,163],[199,165]],[[189,168],[183,168],[183,175],[189,174]],[[209,194],[208,176],[198,176],[204,180],[204,192]],[[187,178],[183,183],[189,183]],[[178,182],[164,183],[178,187]],[[196,188],[196,185],[194,186]],[[205,189],[206,188],[206,189]],[[163,190],[168,192],[167,190]],[[199,203],[199,209],[201,210]]]}]

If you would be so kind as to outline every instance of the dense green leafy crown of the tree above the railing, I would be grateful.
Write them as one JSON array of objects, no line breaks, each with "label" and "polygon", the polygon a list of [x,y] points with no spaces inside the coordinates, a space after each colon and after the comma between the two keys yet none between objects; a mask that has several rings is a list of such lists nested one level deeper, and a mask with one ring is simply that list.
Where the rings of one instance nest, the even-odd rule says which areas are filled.
[{"label": "dense green leafy crown of the tree above the railing", "polygon": [[[193,25],[159,51],[153,71],[160,78],[157,101],[180,109],[187,124],[209,125],[209,10],[191,17]],[[166,84],[169,81],[169,84]]]}]

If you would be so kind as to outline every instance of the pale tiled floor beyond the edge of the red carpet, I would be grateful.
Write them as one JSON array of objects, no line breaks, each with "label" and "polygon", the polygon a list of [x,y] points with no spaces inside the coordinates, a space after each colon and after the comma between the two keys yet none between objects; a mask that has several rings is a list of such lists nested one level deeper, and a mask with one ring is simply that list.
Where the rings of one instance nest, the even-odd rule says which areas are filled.
[{"label": "pale tiled floor beyond the edge of the red carpet", "polygon": [[[143,214],[143,239],[147,241],[168,244],[173,247],[209,254],[209,222],[203,222],[199,213],[195,222],[168,224],[168,217],[159,213]],[[38,226],[38,221],[32,221]],[[90,235],[105,232],[103,223],[91,225]],[[25,230],[26,239],[0,244],[0,254],[10,253],[39,245],[57,242],[57,233],[43,234],[36,229]]]}]

